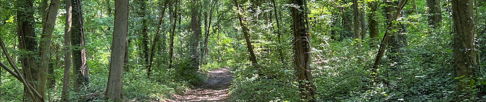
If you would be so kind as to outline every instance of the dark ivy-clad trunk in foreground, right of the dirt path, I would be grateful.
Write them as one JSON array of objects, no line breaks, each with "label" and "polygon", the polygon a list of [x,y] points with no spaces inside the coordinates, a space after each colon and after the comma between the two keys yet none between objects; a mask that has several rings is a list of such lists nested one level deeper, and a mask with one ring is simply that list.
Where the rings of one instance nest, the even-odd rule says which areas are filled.
[{"label": "dark ivy-clad trunk in foreground, right of the dirt path", "polygon": [[294,21],[294,50],[295,50],[295,70],[297,70],[297,81],[301,99],[305,102],[315,102],[314,95],[316,87],[312,81],[311,69],[311,41],[309,34],[309,24],[306,21],[307,13],[306,0],[292,0],[292,4],[298,7],[292,8],[292,18]]}]

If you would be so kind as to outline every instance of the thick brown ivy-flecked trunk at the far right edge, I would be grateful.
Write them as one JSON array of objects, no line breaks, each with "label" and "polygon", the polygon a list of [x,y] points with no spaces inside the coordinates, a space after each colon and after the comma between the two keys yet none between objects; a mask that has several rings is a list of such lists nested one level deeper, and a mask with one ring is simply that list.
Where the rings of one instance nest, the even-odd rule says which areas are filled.
[{"label": "thick brown ivy-flecked trunk at the far right edge", "polygon": [[[454,77],[459,80],[483,75],[477,58],[477,44],[475,40],[475,19],[472,0],[452,0],[452,17],[454,22]],[[472,77],[471,77],[472,76]],[[459,81],[456,93],[468,92],[469,82]]]}]

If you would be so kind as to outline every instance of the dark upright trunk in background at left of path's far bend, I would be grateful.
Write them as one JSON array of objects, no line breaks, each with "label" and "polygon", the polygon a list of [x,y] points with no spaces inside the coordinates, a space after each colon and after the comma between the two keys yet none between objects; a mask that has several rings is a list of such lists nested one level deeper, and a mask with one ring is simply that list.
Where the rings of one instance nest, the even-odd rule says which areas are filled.
[{"label": "dark upright trunk in background at left of path's far bend", "polygon": [[199,66],[199,35],[201,35],[201,24],[199,21],[199,7],[197,7],[198,0],[192,0],[191,3],[193,3],[193,7],[191,9],[191,62],[193,66]]}]

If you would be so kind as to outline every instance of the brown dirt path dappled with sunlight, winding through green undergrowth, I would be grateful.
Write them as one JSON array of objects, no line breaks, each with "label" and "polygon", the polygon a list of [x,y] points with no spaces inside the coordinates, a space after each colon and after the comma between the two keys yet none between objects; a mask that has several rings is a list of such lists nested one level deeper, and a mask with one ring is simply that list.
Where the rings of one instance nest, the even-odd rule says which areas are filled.
[{"label": "brown dirt path dappled with sunlight, winding through green undergrowth", "polygon": [[208,72],[208,82],[187,90],[182,95],[174,95],[173,102],[227,102],[229,86],[233,76],[229,68],[214,69]]}]

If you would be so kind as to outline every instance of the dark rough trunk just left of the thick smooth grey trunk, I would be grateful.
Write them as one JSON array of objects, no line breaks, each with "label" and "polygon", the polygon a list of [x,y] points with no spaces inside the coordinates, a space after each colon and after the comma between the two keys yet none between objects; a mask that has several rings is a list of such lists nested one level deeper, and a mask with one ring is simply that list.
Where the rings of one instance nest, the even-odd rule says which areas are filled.
[{"label": "dark rough trunk just left of the thick smooth grey trunk", "polygon": [[83,10],[81,9],[81,0],[72,1],[72,31],[71,44],[75,47],[72,51],[72,67],[74,79],[74,91],[79,91],[80,87],[86,87],[89,84],[89,73],[87,68],[86,58],[86,41],[85,29],[83,28],[84,18]]}]

